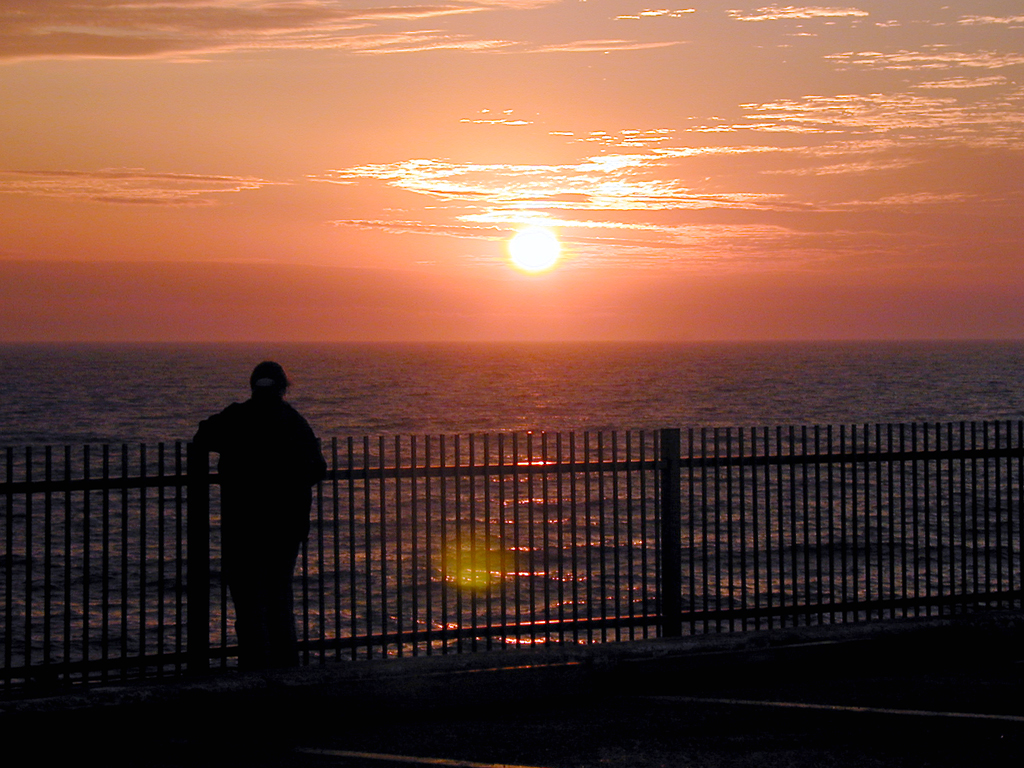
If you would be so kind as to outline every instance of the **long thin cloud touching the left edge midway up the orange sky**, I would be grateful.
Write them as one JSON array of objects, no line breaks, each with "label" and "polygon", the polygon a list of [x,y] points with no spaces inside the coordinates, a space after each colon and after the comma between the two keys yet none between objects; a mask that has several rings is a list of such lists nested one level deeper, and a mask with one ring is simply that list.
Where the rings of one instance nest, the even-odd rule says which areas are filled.
[{"label": "long thin cloud touching the left edge midway up the orange sky", "polygon": [[121,205],[209,205],[211,196],[281,183],[248,176],[144,170],[0,171],[0,193]]}]

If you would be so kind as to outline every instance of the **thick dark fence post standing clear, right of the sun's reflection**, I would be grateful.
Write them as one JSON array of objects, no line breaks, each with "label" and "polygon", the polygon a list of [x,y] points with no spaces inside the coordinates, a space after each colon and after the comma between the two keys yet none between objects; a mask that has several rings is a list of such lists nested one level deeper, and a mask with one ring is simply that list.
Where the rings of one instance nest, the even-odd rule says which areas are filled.
[{"label": "thick dark fence post standing clear, right of the sun's reflection", "polygon": [[660,430],[662,637],[683,634],[681,443],[681,430]]}]

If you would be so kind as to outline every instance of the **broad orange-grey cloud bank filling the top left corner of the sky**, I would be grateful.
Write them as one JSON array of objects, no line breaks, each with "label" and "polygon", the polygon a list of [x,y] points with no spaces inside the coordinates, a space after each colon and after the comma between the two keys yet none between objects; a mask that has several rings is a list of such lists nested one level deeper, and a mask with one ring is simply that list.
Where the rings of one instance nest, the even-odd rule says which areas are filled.
[{"label": "broad orange-grey cloud bank filling the top left corner of the sky", "polygon": [[434,30],[377,28],[555,1],[442,0],[359,7],[333,0],[9,0],[0,6],[0,59],[193,57],[273,48],[378,53],[490,49],[503,43]]}]

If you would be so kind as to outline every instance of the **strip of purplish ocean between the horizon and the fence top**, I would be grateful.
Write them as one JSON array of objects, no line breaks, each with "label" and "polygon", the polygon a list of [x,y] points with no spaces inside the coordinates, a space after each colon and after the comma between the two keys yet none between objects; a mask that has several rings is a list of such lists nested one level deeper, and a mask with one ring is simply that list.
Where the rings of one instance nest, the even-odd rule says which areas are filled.
[{"label": "strip of purplish ocean between the horizon and the fence top", "polygon": [[262,359],[325,439],[1024,415],[1024,342],[7,344],[0,446],[187,440]]}]

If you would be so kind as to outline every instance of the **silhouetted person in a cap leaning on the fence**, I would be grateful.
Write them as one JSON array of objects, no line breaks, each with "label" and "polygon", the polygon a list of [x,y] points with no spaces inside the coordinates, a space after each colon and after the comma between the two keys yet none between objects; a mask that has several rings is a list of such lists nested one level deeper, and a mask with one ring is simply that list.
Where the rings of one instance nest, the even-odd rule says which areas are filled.
[{"label": "silhouetted person in a cap leaning on the fence", "polygon": [[193,438],[220,455],[221,572],[234,603],[239,666],[299,663],[292,579],[309,534],[312,485],[327,464],[313,430],[285,401],[272,361],[249,379],[252,397],[200,422]]}]

